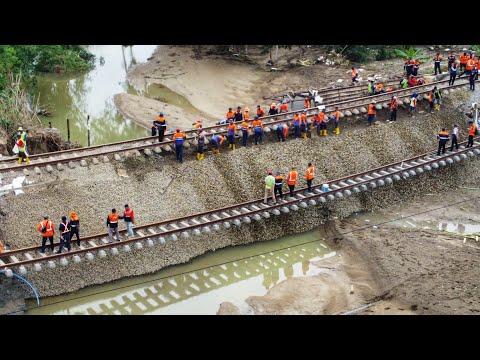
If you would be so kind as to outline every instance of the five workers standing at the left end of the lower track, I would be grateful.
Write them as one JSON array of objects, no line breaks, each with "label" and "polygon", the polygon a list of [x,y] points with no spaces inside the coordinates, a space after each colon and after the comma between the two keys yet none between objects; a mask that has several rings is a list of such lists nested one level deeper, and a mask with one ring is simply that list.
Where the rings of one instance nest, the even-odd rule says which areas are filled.
[{"label": "five workers standing at the left end of the lower track", "polygon": [[[117,241],[120,241],[120,236],[118,233],[119,219],[125,220],[125,224],[127,225],[127,237],[134,236],[133,224],[135,223],[135,216],[133,213],[133,209],[129,207],[128,204],[126,204],[125,210],[123,211],[122,215],[118,214],[115,209],[112,209],[111,213],[107,216],[106,225],[108,227],[109,243],[113,242],[114,233],[116,235]],[[47,240],[50,241],[50,249],[53,253],[53,237],[55,234],[55,225],[53,224],[53,221],[50,220],[50,217],[48,215],[44,215],[43,220],[37,225],[37,231],[42,234],[41,253],[44,254],[46,251]],[[60,244],[58,250],[56,251],[57,254],[60,254],[64,247],[66,247],[68,251],[71,251],[71,243],[75,235],[77,239],[77,246],[80,246],[80,219],[75,211],[70,212],[69,219],[67,219],[66,216],[62,216],[62,220],[60,222],[60,225],[58,226],[58,231],[60,233]]]}]

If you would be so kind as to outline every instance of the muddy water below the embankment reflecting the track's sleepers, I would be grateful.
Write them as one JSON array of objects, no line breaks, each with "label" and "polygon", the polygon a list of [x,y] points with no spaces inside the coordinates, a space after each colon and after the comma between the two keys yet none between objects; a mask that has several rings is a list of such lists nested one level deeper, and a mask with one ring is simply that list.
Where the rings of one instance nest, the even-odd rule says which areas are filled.
[{"label": "muddy water below the embankment reflecting the track's sleepers", "polygon": [[316,275],[321,270],[311,262],[334,255],[314,230],[42,299],[40,307],[30,301],[26,314],[215,314],[224,301],[248,314],[246,298],[264,295],[287,278]]}]

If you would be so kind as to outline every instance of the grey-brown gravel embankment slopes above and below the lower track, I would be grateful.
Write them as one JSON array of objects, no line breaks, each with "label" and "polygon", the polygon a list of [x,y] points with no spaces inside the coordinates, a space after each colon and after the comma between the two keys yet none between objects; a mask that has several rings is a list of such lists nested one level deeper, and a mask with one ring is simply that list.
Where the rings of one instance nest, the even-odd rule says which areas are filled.
[{"label": "grey-brown gravel embankment slopes above and below the lower track", "polygon": [[[326,179],[431,151],[437,145],[435,135],[439,128],[450,128],[459,116],[458,111],[417,115],[412,119],[399,118],[395,124],[352,129],[337,137],[238,147],[233,152],[227,148],[218,157],[207,154],[201,162],[187,158],[178,164],[173,156],[155,155],[150,159],[132,156],[122,162],[89,163],[88,168],[43,172],[38,178],[30,176],[41,178],[38,186],[25,189],[23,195],[8,195],[1,200],[7,213],[2,221],[3,237],[15,248],[39,244],[35,226],[45,212],[58,227],[61,216],[75,210],[81,219],[82,233],[94,234],[105,232],[105,218],[110,209],[122,210],[125,203],[133,207],[137,224],[141,225],[252,200],[263,196],[263,179],[268,169],[285,173],[295,166],[300,172],[299,185],[305,186],[303,174],[309,161],[316,166],[314,184],[320,184]],[[122,176],[124,173],[128,177]],[[302,209],[208,236],[132,249],[128,254],[120,251],[116,256],[96,257],[93,262],[85,260],[65,268],[57,265],[54,270],[45,268],[39,273],[29,271],[27,278],[35,283],[42,296],[75,291],[91,284],[154,272],[224,246],[307,231],[328,216],[345,217],[354,211],[401,204],[412,197],[453,189],[478,175],[475,160],[462,161],[326,206]]]}]

